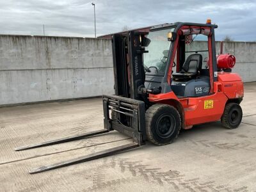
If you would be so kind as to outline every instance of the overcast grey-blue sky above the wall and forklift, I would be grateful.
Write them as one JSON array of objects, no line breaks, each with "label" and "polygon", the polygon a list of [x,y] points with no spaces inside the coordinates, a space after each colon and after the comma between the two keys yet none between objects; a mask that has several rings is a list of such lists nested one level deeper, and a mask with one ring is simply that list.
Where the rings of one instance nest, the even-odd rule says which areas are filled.
[{"label": "overcast grey-blue sky above the wall and forklift", "polygon": [[166,22],[218,24],[216,40],[230,35],[256,41],[256,0],[0,0],[0,34],[93,36],[93,6],[97,35]]}]

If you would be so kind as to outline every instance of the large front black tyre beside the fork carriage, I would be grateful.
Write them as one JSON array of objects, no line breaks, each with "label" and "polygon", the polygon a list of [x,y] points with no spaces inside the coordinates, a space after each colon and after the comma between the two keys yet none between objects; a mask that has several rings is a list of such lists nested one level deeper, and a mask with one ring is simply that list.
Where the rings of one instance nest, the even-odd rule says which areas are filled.
[{"label": "large front black tyre beside the fork carriage", "polygon": [[154,104],[146,114],[147,140],[156,145],[172,143],[179,135],[180,114],[173,106]]}]

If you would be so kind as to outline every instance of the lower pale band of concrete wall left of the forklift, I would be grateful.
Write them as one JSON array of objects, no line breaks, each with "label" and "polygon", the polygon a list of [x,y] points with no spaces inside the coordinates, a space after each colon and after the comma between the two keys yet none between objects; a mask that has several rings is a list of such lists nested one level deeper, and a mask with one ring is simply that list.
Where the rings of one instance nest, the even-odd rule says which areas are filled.
[{"label": "lower pale band of concrete wall left of the forklift", "polygon": [[0,71],[0,105],[113,93],[113,68]]}]

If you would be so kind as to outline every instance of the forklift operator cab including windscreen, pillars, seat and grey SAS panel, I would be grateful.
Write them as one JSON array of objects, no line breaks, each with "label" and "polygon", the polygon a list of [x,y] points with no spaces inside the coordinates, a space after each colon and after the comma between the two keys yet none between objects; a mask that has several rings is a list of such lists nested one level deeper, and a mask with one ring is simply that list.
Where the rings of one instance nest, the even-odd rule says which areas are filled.
[{"label": "forklift operator cab including windscreen, pillars, seat and grey SAS panel", "polygon": [[175,23],[150,29],[148,53],[143,54],[145,88],[161,88],[179,98],[211,94],[216,81],[212,28],[216,26]]}]

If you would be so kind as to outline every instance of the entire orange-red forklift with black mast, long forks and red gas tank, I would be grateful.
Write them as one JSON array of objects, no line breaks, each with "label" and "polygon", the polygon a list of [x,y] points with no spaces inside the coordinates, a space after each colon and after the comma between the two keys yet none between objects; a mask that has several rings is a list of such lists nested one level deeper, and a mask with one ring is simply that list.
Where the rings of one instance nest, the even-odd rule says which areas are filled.
[{"label": "entire orange-red forklift with black mast, long forks and red gas tank", "polygon": [[80,140],[118,131],[133,142],[94,154],[49,164],[29,173],[106,157],[140,147],[172,143],[180,129],[221,120],[228,129],[239,126],[243,112],[243,82],[231,68],[236,58],[216,56],[214,29],[218,26],[175,22],[148,32],[112,35],[115,95],[103,95],[104,129],[46,141],[15,150]]}]

